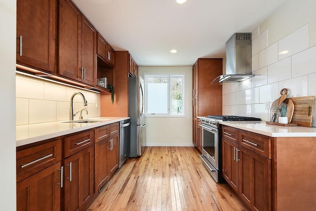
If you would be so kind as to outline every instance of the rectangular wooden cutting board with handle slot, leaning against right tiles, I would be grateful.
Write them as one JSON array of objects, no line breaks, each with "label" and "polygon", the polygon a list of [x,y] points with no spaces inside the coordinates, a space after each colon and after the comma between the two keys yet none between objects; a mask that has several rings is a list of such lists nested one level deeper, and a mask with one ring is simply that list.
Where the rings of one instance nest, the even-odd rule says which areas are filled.
[{"label": "rectangular wooden cutting board with handle slot, leaning against right tiles", "polygon": [[289,98],[294,104],[294,113],[291,123],[298,126],[312,127],[315,96]]}]

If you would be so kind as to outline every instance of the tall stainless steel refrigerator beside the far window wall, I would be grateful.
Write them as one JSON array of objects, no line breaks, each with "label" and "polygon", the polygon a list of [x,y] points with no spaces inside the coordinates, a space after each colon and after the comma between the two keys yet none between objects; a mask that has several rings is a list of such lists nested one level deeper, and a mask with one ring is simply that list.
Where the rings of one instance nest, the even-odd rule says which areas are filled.
[{"label": "tall stainless steel refrigerator beside the far window wall", "polygon": [[143,154],[145,148],[144,80],[140,76],[128,78],[128,115],[130,117],[129,157]]}]

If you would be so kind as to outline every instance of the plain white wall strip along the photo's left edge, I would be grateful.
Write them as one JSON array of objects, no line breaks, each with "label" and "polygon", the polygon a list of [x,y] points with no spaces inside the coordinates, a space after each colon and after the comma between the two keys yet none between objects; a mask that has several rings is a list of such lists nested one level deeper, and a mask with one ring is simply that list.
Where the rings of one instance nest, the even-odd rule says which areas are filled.
[{"label": "plain white wall strip along the photo's left edge", "polygon": [[16,0],[0,0],[0,210],[16,210],[15,42]]}]

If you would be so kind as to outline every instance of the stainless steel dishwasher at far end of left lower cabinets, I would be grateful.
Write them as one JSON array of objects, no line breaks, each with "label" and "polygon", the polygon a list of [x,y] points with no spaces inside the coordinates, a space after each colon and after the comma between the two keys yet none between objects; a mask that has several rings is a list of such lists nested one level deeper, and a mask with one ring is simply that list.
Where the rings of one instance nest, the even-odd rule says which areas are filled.
[{"label": "stainless steel dishwasher at far end of left lower cabinets", "polygon": [[119,122],[119,160],[118,168],[120,168],[129,156],[130,145],[130,119]]}]

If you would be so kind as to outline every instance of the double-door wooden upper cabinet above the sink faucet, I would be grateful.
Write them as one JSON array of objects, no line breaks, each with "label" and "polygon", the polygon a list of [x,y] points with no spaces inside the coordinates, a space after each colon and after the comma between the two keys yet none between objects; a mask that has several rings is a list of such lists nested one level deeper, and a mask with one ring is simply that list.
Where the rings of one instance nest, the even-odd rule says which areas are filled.
[{"label": "double-door wooden upper cabinet above the sink faucet", "polygon": [[96,85],[96,30],[71,0],[59,1],[59,74]]}]

